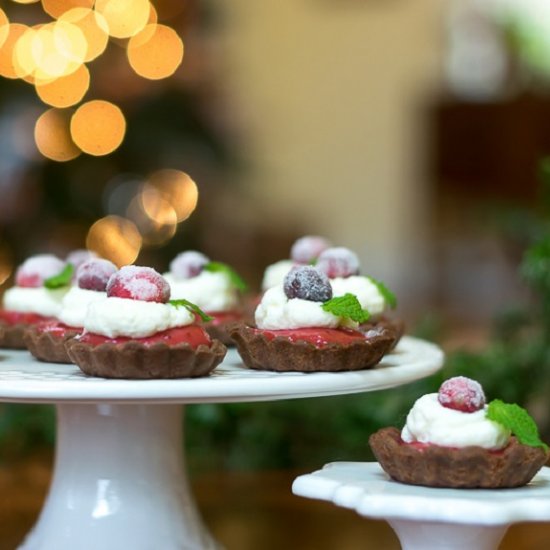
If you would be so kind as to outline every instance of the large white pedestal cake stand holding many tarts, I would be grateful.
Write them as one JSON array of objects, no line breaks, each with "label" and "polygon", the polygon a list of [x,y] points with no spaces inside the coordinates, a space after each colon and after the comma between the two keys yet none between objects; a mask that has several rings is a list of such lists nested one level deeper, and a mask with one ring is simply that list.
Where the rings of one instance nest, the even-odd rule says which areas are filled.
[{"label": "large white pedestal cake stand holding many tarts", "polygon": [[52,484],[20,550],[218,548],[189,490],[183,404],[373,391],[428,376],[442,363],[439,348],[404,337],[373,370],[251,371],[231,351],[206,378],[131,381],[91,378],[74,365],[0,351],[0,401],[57,407]]}]

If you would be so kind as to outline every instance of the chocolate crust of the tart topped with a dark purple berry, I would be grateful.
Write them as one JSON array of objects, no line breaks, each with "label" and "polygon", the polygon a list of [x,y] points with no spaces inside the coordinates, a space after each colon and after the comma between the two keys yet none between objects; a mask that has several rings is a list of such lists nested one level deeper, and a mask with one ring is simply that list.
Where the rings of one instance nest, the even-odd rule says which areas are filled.
[{"label": "chocolate crust of the tart topped with a dark purple berry", "polygon": [[240,324],[233,327],[235,341],[244,364],[250,369],[279,372],[339,372],[374,367],[390,350],[394,335],[381,330],[372,337],[341,345],[317,347],[306,341],[285,337],[268,338],[261,330]]}]

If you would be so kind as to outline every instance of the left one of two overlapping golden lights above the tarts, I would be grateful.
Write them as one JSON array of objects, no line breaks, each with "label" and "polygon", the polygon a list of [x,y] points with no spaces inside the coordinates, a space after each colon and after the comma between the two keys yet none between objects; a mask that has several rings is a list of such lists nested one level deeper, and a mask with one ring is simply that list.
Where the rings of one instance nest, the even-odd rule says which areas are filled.
[{"label": "left one of two overlapping golden lights above the tarts", "polygon": [[174,208],[151,185],[142,186],[128,205],[126,215],[136,224],[146,245],[164,244],[176,233],[178,220]]}]

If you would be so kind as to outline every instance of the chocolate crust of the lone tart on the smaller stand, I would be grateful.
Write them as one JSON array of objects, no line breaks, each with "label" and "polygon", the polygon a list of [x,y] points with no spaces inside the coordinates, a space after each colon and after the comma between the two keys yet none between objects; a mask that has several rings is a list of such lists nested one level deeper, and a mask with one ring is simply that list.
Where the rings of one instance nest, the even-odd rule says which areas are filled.
[{"label": "chocolate crust of the lone tart on the smaller stand", "polygon": [[548,459],[540,447],[510,439],[500,451],[482,447],[417,447],[404,443],[397,428],[372,434],[369,444],[384,471],[409,485],[447,488],[512,488],[526,485]]}]

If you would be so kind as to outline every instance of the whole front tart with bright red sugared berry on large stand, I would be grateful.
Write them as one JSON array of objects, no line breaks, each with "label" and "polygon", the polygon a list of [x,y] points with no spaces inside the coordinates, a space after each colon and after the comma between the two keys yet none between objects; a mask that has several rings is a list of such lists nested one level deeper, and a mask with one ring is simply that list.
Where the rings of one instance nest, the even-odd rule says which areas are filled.
[{"label": "whole front tart with bright red sugared berry on large stand", "polygon": [[169,302],[170,285],[149,267],[125,266],[107,283],[107,297],[88,306],[84,332],[67,353],[90,376],[124,379],[208,375],[226,348],[196,322],[187,300]]}]

